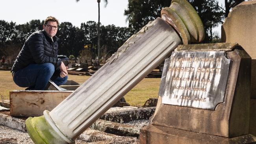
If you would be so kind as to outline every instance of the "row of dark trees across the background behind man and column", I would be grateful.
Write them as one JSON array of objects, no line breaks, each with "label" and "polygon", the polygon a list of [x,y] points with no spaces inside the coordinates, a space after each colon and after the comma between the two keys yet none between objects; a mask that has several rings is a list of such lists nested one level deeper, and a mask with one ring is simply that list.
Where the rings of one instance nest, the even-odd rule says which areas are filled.
[{"label": "row of dark trees across the background behind man and column", "polygon": [[[219,0],[188,0],[204,24],[206,37],[202,43],[220,42],[218,35],[213,33],[213,28],[222,24],[230,9],[243,1],[225,0],[225,5],[222,6]],[[99,4],[100,0],[97,2]],[[78,28],[70,22],[62,22],[56,34],[60,39],[59,54],[74,55],[84,60],[95,59],[100,54],[99,58],[106,60],[148,21],[160,17],[161,9],[169,7],[170,4],[171,0],[128,0],[128,7],[124,11],[129,23],[128,28],[113,24],[104,26],[94,21],[82,23]],[[0,56],[15,59],[29,35],[42,28],[43,21],[41,20],[31,20],[19,25],[15,22],[0,20]],[[100,39],[98,33],[100,33]]]}]

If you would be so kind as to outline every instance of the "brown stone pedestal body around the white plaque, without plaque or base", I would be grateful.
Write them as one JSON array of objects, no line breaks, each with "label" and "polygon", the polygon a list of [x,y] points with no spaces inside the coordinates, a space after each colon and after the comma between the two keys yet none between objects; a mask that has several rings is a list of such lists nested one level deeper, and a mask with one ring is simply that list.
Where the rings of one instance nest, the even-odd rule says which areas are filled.
[{"label": "brown stone pedestal body around the white plaque, without plaque or base", "polygon": [[163,104],[159,96],[151,124],[227,138],[249,134],[251,60],[239,46],[226,55],[232,65],[224,103],[213,111]]}]

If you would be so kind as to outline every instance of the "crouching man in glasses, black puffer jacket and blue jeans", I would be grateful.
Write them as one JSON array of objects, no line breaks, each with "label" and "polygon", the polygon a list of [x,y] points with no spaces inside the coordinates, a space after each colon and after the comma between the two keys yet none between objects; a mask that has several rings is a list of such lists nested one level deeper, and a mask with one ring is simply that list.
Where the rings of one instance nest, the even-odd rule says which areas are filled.
[{"label": "crouching man in glasses, black puffer jacket and blue jeans", "polygon": [[68,78],[67,66],[58,59],[59,22],[47,17],[43,30],[35,31],[26,39],[11,69],[13,81],[27,90],[45,90],[51,79],[56,85],[63,85]]}]

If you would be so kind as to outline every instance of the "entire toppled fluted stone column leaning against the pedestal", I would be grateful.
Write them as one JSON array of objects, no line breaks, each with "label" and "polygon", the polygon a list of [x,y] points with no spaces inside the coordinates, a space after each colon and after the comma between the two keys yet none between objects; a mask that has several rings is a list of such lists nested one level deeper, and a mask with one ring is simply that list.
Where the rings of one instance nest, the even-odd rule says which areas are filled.
[{"label": "entire toppled fluted stone column leaning against the pedestal", "polygon": [[178,44],[202,39],[202,22],[197,13],[191,13],[192,6],[182,7],[184,2],[187,1],[179,0],[179,7],[164,9],[164,19],[169,24],[156,18],[130,37],[102,68],[51,112],[28,118],[26,127],[32,140],[36,144],[73,144],[76,137],[154,70]]}]

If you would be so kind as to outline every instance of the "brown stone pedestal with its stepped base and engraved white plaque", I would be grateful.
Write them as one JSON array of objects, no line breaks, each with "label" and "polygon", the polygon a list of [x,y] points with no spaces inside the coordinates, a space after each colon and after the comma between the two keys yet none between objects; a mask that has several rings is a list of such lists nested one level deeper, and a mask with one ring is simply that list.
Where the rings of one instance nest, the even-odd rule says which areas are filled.
[{"label": "brown stone pedestal with its stepped base and engraved white plaque", "polygon": [[250,63],[236,43],[180,45],[165,60],[158,105],[141,129],[141,144],[256,142],[249,135]]}]

